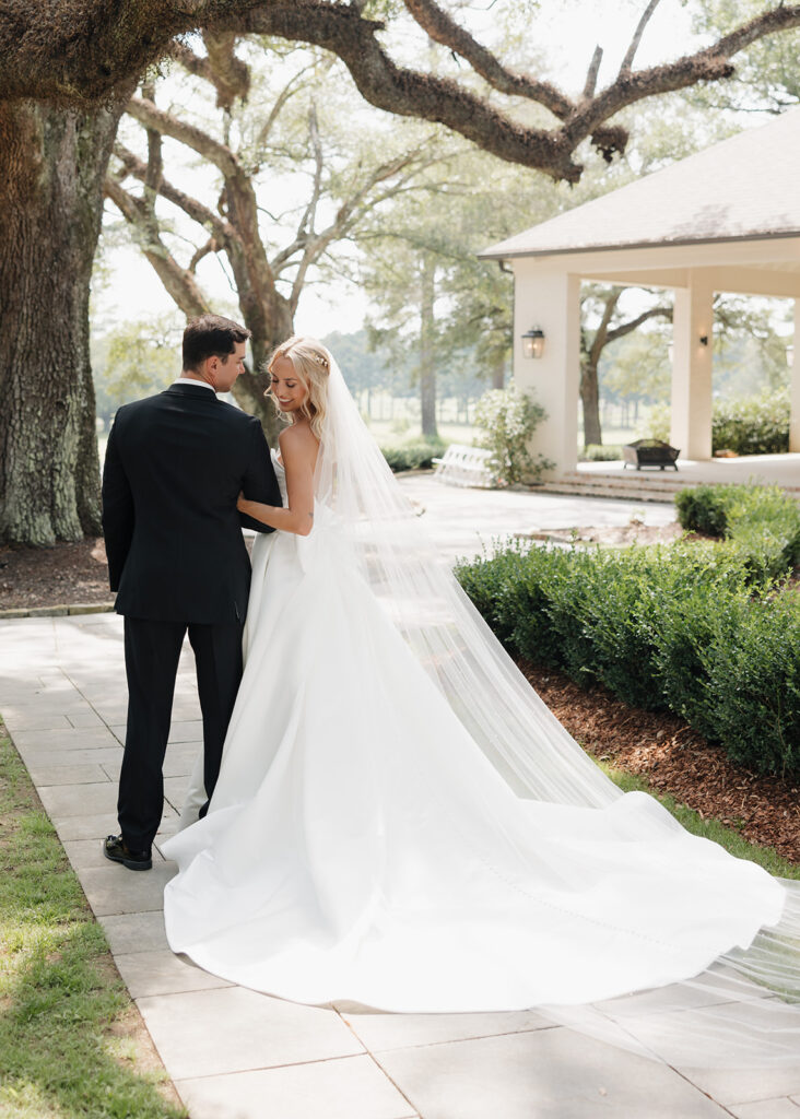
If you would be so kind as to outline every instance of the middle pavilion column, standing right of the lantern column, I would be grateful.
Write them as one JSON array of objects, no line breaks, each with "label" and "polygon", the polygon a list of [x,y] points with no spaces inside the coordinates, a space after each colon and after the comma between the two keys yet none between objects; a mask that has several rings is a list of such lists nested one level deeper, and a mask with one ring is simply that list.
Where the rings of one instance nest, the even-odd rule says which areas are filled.
[{"label": "middle pavilion column, standing right of the lantern column", "polygon": [[684,459],[712,458],[713,300],[713,288],[695,274],[675,291],[670,441]]}]

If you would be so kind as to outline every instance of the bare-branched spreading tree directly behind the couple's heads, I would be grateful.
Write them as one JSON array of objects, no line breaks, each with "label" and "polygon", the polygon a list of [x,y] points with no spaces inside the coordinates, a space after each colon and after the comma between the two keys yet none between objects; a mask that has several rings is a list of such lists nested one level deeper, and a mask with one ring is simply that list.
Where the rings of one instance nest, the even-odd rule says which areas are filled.
[{"label": "bare-branched spreading tree directly behind the couple's heads", "polygon": [[[263,66],[255,69],[245,60],[253,56],[252,44],[209,34],[204,41],[205,56],[187,46],[173,51],[189,75],[177,92],[192,106],[191,115],[158,107],[159,85],[167,95],[176,91],[148,79],[142,96],[128,105],[129,116],[142,125],[140,137],[133,134],[147,145],[147,158],[117,140],[105,191],[187,318],[213,309],[198,265],[224,257],[239,317],[252,331],[253,368],[237,379],[234,395],[274,438],[277,420],[264,398],[263,369],[270,351],[293,333],[305,285],[320,270],[330,273],[333,245],[351,238],[365,215],[408,189],[436,156],[430,130],[412,128],[384,137],[376,150],[331,91],[328,59],[309,51],[295,53],[294,62],[279,55],[279,79],[270,81],[272,70],[265,78]],[[266,117],[264,104],[271,106]],[[198,115],[203,126],[195,123]],[[179,185],[181,167],[175,147],[166,151],[166,138],[214,169],[205,191],[199,184]],[[291,209],[280,214],[272,186],[282,173],[297,186]],[[141,184],[138,192],[128,180]],[[181,217],[189,223],[177,226]]]}]

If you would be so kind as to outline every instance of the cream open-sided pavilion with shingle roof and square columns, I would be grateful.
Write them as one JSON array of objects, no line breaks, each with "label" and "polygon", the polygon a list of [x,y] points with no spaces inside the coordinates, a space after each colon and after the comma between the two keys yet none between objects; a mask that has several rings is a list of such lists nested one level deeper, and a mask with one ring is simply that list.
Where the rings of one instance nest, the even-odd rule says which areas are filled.
[{"label": "cream open-sided pavilion with shingle roof and square columns", "polygon": [[[536,446],[555,462],[555,477],[576,467],[583,280],[674,289],[670,440],[681,459],[710,464],[715,292],[793,299],[800,336],[800,110],[480,255],[514,270],[514,378],[547,412]],[[524,351],[531,329],[544,335],[540,357]],[[800,453],[800,357],[789,450]],[[800,459],[787,459],[800,478]]]}]

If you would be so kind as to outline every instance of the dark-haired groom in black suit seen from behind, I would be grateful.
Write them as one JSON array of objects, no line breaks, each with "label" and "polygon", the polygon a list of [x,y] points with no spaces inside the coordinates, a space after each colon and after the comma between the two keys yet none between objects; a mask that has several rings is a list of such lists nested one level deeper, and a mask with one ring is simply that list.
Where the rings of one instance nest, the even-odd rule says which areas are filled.
[{"label": "dark-haired groom in black suit seen from behind", "polygon": [[163,393],[121,407],[103,470],[103,529],[116,612],[124,614],[128,730],[120,774],[121,835],[106,858],[152,866],[163,810],[178,658],[188,629],[203,711],[205,815],[242,677],[251,566],[236,510],[245,497],[281,505],[258,421],[217,399],[243,372],[250,330],[204,314],[183,331],[183,370]]}]

